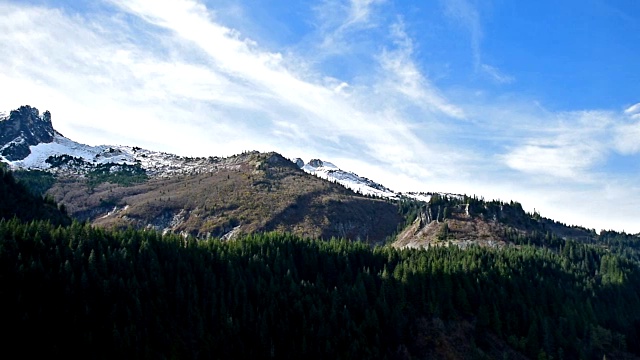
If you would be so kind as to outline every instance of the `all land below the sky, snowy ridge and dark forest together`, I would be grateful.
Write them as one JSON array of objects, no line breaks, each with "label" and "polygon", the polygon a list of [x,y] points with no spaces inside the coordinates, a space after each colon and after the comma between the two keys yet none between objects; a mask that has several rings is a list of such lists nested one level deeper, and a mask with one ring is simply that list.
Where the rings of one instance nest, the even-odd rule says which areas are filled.
[{"label": "all land below the sky, snowy ridge and dark forest together", "polygon": [[[395,194],[317,159],[305,164],[273,152],[185,158],[82,145],[38,114],[17,112],[13,125],[2,125],[7,133],[22,128],[0,144],[17,149],[0,163],[8,351],[71,358],[640,354],[633,341],[640,334],[637,235],[568,227],[517,202]],[[20,149],[47,128],[51,141]],[[70,220],[52,197],[91,224],[64,226]],[[66,221],[53,220],[56,213]],[[21,221],[6,220],[12,217]],[[334,236],[363,241],[323,241]],[[393,246],[368,246],[390,237]],[[460,250],[471,244],[481,246]],[[407,247],[426,250],[400,250]],[[57,331],[61,323],[71,332]],[[39,346],[30,346],[36,338]]]}]

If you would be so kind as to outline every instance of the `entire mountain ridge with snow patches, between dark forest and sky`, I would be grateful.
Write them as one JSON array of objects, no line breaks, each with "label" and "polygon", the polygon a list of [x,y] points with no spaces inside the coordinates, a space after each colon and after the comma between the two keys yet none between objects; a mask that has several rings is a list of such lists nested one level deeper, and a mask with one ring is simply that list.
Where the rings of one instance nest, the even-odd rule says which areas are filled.
[{"label": "entire mountain ridge with snow patches, between dark forest and sky", "polygon": [[131,146],[89,146],[64,137],[51,114],[22,106],[0,120],[0,160],[73,217],[100,226],[150,228],[199,238],[286,231],[397,247],[504,246],[517,236],[593,242],[518,203],[458,194],[400,193],[329,161],[246,152],[182,157]]}]

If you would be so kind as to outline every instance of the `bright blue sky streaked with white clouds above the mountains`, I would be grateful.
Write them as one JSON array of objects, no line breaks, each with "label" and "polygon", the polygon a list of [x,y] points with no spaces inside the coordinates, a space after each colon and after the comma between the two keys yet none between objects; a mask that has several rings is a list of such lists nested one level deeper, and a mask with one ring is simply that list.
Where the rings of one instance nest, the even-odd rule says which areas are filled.
[{"label": "bright blue sky streaked with white clouds above the mountains", "polygon": [[2,1],[0,110],[640,232],[640,3]]}]

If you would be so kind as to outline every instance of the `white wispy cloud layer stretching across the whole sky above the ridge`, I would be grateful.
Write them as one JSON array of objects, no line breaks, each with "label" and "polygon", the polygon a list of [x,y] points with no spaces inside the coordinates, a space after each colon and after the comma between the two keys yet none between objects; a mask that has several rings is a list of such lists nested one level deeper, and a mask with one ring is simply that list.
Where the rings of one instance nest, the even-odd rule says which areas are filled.
[{"label": "white wispy cloud layer stretching across the whole sky above the ridge", "polygon": [[[317,43],[274,51],[203,2],[106,4],[103,13],[77,14],[0,3],[0,109],[51,110],[59,130],[91,144],[321,157],[397,190],[520,200],[587,226],[607,219],[566,204],[614,211],[607,201],[617,201],[631,214],[620,224],[635,223],[629,199],[640,199],[638,177],[600,167],[612,154],[640,153],[640,104],[554,111],[517,94],[445,88],[419,61],[424,44],[409,35],[413,23],[382,1],[323,3],[309,38],[333,36],[338,60],[357,52],[358,76],[344,77],[317,60]],[[477,71],[513,81],[482,61],[477,9],[451,4]]]}]

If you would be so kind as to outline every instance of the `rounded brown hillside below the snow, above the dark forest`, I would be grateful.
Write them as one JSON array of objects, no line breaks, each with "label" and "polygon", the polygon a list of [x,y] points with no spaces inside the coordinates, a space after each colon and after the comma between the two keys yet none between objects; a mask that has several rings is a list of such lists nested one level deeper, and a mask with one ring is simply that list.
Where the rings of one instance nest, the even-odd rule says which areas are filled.
[{"label": "rounded brown hillside below the snow, above the dark forest", "polygon": [[153,228],[197,237],[288,231],[377,243],[402,218],[395,204],[311,176],[276,153],[216,160],[212,172],[91,189],[66,177],[49,191],[73,216],[107,227]]}]

